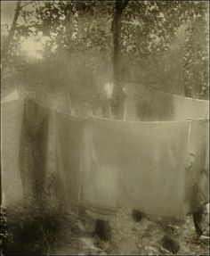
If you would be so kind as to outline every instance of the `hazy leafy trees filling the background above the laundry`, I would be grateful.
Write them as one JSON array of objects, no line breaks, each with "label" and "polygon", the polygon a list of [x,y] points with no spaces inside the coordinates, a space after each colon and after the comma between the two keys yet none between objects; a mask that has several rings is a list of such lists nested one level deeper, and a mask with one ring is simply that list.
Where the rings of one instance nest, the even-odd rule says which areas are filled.
[{"label": "hazy leafy trees filling the background above the laundry", "polygon": [[[3,67],[9,69],[4,71],[16,72],[10,73],[12,82],[4,75],[5,84],[15,80],[33,89],[68,91],[100,104],[102,87],[112,81],[116,118],[122,117],[122,88],[129,81],[205,98],[206,13],[203,1],[18,2],[15,26],[4,41],[12,43],[3,44]],[[45,44],[36,60],[17,44],[38,35]]]}]

